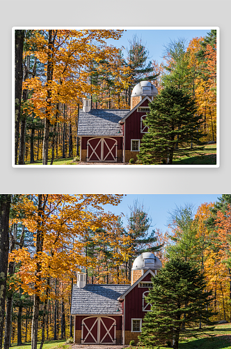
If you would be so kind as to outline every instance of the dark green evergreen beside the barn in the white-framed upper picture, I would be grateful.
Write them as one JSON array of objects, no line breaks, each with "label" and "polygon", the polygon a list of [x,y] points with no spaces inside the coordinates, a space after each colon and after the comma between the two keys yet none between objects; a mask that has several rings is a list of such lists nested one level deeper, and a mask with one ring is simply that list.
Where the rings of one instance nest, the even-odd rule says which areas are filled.
[{"label": "dark green evergreen beside the barn in the white-framed upper picture", "polygon": [[[143,123],[149,131],[141,140],[138,161],[144,165],[173,164],[174,154],[185,154],[189,143],[202,145],[201,116],[196,103],[181,89],[166,87],[150,103],[150,113]],[[166,160],[168,158],[168,161]]]}]

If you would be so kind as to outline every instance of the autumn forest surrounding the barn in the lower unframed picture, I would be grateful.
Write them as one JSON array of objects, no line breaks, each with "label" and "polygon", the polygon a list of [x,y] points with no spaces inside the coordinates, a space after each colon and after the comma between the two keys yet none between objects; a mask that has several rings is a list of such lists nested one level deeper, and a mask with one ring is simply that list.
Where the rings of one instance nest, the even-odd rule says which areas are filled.
[{"label": "autumn forest surrounding the barn in the lower unframed picture", "polygon": [[[175,207],[168,231],[155,228],[138,201],[116,216],[104,205],[122,195],[0,195],[0,346],[73,336],[72,285],[129,284],[132,262],[152,251],[162,265],[180,258],[205,275],[212,320],[231,321],[231,195]],[[7,275],[7,277],[5,277]]]}]

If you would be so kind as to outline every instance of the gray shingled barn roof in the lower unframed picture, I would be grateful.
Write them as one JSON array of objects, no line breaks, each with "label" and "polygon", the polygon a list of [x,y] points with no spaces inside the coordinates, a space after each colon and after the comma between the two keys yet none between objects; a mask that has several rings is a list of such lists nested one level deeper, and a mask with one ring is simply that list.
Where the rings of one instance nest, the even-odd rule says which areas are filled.
[{"label": "gray shingled barn roof in the lower unframed picture", "polygon": [[[91,285],[78,288],[73,285],[71,314],[121,315],[122,306],[118,301],[131,285]],[[118,310],[119,309],[119,310]]]}]

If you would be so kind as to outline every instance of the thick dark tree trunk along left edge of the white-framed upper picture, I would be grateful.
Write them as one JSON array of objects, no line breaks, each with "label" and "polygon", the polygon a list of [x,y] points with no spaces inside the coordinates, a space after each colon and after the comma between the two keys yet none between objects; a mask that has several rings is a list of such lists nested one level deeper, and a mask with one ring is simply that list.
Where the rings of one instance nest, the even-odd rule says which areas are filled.
[{"label": "thick dark tree trunk along left edge of the white-framed upper picture", "polygon": [[24,36],[24,30],[15,30],[15,165],[17,164],[17,152],[19,145],[19,124],[23,79],[22,57]]}]

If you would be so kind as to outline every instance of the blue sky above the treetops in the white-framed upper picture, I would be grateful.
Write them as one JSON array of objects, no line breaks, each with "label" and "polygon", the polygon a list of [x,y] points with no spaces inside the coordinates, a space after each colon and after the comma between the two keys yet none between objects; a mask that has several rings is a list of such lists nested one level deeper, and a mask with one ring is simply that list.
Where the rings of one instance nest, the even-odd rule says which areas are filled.
[{"label": "blue sky above the treetops in the white-framed upper picture", "polygon": [[132,40],[134,35],[141,38],[145,47],[148,48],[150,52],[149,60],[156,60],[159,63],[163,60],[164,55],[164,45],[170,43],[170,40],[178,40],[179,38],[185,38],[187,43],[192,38],[200,38],[207,36],[209,29],[152,29],[152,30],[130,30],[128,29],[122,34],[122,38],[119,40],[109,39],[107,43],[114,45],[116,47],[129,47],[129,41]]}]

